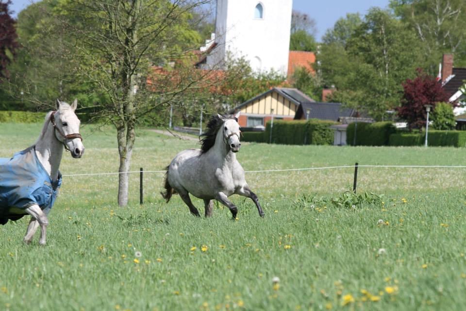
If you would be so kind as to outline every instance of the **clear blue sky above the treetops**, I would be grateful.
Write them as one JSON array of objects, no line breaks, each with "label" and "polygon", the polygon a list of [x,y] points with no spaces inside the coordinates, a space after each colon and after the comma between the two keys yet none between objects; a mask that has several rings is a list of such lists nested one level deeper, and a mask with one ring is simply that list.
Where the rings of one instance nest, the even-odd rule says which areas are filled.
[{"label": "clear blue sky above the treetops", "polygon": [[[11,9],[15,11],[15,17],[32,0],[13,0]],[[347,13],[359,12],[365,15],[373,6],[385,8],[390,0],[293,0],[293,9],[308,14],[317,22],[317,40],[325,34],[328,28],[333,27],[335,21],[345,17]]]}]

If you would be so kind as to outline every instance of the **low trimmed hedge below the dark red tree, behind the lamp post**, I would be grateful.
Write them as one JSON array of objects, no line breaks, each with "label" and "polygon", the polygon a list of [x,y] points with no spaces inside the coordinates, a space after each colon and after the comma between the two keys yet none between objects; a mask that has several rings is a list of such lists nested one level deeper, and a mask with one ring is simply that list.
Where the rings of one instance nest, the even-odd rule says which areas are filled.
[{"label": "low trimmed hedge below the dark red tree, behind the lamp post", "polygon": [[[399,133],[390,135],[390,146],[422,146],[426,133]],[[429,131],[428,146],[466,147],[466,131]]]}]

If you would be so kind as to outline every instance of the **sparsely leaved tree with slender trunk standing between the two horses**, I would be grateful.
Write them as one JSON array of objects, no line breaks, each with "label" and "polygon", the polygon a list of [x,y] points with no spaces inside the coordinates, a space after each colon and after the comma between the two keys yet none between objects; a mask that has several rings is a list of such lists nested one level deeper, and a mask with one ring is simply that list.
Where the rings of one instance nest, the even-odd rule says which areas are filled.
[{"label": "sparsely leaved tree with slender trunk standing between the two horses", "polygon": [[[117,130],[118,204],[128,204],[128,172],[138,118],[161,105],[195,96],[208,73],[193,70],[186,52],[190,12],[209,0],[77,0],[57,10],[68,30],[75,75],[98,87],[105,100],[96,117]],[[184,66],[186,65],[186,66]],[[170,74],[176,69],[177,74]]]}]

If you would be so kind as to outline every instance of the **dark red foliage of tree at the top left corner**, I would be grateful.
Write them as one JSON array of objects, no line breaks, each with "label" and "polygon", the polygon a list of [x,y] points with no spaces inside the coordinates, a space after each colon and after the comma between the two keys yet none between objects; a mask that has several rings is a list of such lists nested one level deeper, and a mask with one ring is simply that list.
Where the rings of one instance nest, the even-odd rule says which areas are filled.
[{"label": "dark red foliage of tree at the top left corner", "polygon": [[10,16],[10,4],[11,0],[0,0],[0,82],[1,78],[8,77],[6,67],[12,62],[18,48],[16,20]]}]

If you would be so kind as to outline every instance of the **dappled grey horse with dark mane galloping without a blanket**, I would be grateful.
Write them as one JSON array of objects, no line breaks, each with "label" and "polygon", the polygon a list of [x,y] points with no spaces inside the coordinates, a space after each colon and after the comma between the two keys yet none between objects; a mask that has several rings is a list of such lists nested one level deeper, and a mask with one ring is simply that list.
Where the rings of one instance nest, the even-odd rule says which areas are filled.
[{"label": "dappled grey horse with dark mane galloping without a blanket", "polygon": [[212,216],[216,199],[230,209],[236,219],[237,207],[228,200],[232,194],[239,194],[254,201],[259,215],[264,217],[257,196],[244,178],[244,170],[236,160],[241,147],[239,141],[239,113],[233,118],[213,116],[202,133],[201,149],[180,152],[166,167],[165,189],[162,196],[168,202],[173,193],[179,193],[192,214],[200,217],[192,204],[189,193],[204,200],[205,217]]}]

